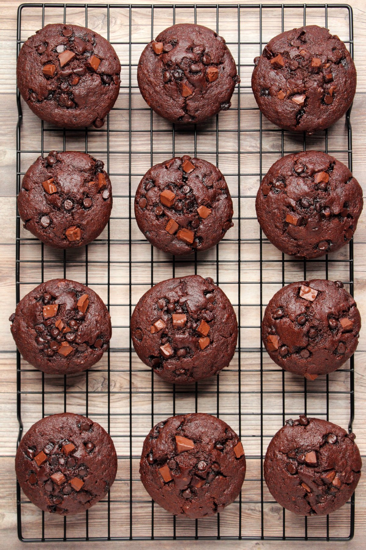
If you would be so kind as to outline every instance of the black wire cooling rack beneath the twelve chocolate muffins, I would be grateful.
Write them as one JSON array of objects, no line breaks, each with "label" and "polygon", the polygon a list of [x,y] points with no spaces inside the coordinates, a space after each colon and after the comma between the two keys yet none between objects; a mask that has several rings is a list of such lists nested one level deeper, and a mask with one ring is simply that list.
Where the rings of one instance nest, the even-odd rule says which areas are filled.
[{"label": "black wire cooling rack beneath the twelve chocolate muffins", "polygon": [[[17,192],[22,175],[49,150],[81,150],[101,158],[110,174],[114,206],[108,227],[80,250],[59,251],[32,238],[16,217],[16,300],[55,277],[76,279],[108,305],[111,347],[91,370],[44,375],[17,355],[19,439],[33,422],[56,412],[86,414],[114,439],[117,479],[108,498],[85,515],[47,514],[17,486],[18,534],[23,541],[257,539],[347,540],[354,530],[354,497],[330,517],[299,518],[274,502],[263,480],[263,458],[274,433],[291,416],[329,419],[351,430],[354,411],[353,357],[344,368],[315,381],[284,372],[262,349],[264,307],[277,290],[307,278],[342,279],[353,292],[353,243],[331,256],[299,261],[263,237],[255,196],[271,164],[286,153],[318,149],[352,169],[350,112],[311,138],[275,128],[261,116],[250,88],[252,59],[279,32],[305,24],[329,27],[353,54],[352,9],[339,4],[23,4],[18,11],[18,52],[48,23],[88,26],[112,43],[122,64],[121,92],[100,130],[55,129],[35,117],[18,92]],[[139,94],[136,71],[146,43],[174,23],[199,23],[226,38],[241,84],[232,108],[200,127],[174,127],[156,116]],[[188,153],[221,169],[234,202],[234,223],[216,248],[175,259],[154,249],[133,217],[134,191],[151,165]],[[129,318],[140,296],[163,279],[210,276],[232,301],[240,326],[229,368],[194,386],[172,386],[137,358]],[[143,439],[155,423],[174,414],[207,412],[237,431],[247,458],[240,496],[216,518],[174,518],[149,498],[139,481]]]}]

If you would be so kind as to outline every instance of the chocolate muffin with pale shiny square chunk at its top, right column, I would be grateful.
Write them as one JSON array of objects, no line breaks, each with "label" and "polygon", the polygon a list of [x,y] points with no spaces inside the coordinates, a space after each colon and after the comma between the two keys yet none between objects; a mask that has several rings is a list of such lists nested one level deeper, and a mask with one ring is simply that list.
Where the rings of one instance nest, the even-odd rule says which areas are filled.
[{"label": "chocolate muffin with pale shiny square chunk at its top, right column", "polygon": [[264,311],[262,340],[277,365],[314,380],[353,355],[360,329],[357,304],[343,283],[313,279],[275,293]]}]

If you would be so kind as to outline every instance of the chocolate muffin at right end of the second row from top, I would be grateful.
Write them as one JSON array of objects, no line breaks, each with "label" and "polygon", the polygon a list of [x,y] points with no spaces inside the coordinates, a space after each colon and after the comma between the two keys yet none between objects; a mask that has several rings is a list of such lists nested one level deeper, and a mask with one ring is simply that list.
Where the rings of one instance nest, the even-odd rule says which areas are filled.
[{"label": "chocolate muffin at right end of the second row from top", "polygon": [[281,252],[317,258],[344,246],[356,231],[362,189],[348,168],[320,151],[276,161],[258,189],[256,211]]}]

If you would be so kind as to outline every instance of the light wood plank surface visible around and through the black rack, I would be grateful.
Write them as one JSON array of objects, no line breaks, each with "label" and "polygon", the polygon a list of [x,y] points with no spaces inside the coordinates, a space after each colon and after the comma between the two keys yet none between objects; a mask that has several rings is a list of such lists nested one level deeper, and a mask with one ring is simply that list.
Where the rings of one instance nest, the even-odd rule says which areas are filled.
[{"label": "light wood plank surface visible around and through the black rack", "polygon": [[[88,3],[88,26],[107,37],[108,17],[106,10],[93,9],[91,1]],[[216,27],[216,9],[200,9],[207,2],[197,3],[197,22],[212,28]],[[271,2],[268,2],[271,4]],[[70,2],[75,4],[75,2]],[[139,4],[148,4],[140,0]],[[161,2],[155,2],[159,5]],[[194,21],[194,9],[182,9],[181,2],[176,2],[176,23]],[[184,4],[187,4],[185,2]],[[237,11],[229,8],[232,5],[228,2],[227,9],[219,10],[219,32],[228,42],[238,41],[238,18]],[[244,2],[245,4],[245,2]],[[281,31],[280,8],[276,8],[274,2],[271,10],[263,10],[263,36],[262,41],[266,43],[269,38]],[[301,2],[292,2],[301,4]],[[340,4],[335,1],[334,4]],[[357,94],[352,109],[353,128],[353,174],[364,187],[364,163],[365,138],[364,127],[366,122],[366,107],[364,95],[366,89],[366,31],[365,31],[365,4],[363,0],[351,2],[354,15],[354,60],[358,73]],[[112,5],[112,3],[111,3]],[[14,474],[14,454],[16,437],[18,434],[18,421],[16,419],[16,353],[13,339],[9,331],[8,317],[15,309],[15,194],[16,194],[16,142],[15,127],[18,113],[16,110],[15,97],[15,67],[16,67],[16,8],[17,2],[3,0],[1,2],[2,18],[0,32],[0,115],[2,121],[1,140],[1,213],[2,231],[0,235],[1,258],[2,258],[2,293],[0,294],[1,304],[1,446],[0,446],[0,473],[1,473],[1,499],[0,499],[0,543],[1,547],[19,548],[21,543],[16,536],[16,494]],[[21,39],[26,39],[35,30],[42,26],[40,20],[41,10],[24,10]],[[85,10],[80,8],[67,8],[67,23],[85,24]],[[307,24],[324,25],[324,12],[320,10],[307,9]],[[47,10],[45,12],[45,24],[62,21],[63,9]],[[285,29],[302,24],[303,11],[299,9],[285,9]],[[338,34],[342,39],[348,38],[348,15],[344,9],[328,9],[328,27],[331,32]],[[154,10],[154,34],[171,25],[172,10]],[[241,41],[258,41],[258,10],[241,10],[240,17]],[[129,12],[125,9],[110,9],[109,33],[111,41],[128,41],[129,36]],[[147,42],[151,38],[151,10],[136,10],[131,12],[131,35],[134,42]],[[238,60],[238,47],[230,45],[230,50]],[[131,62],[136,65],[139,53],[143,45],[135,45],[131,51]],[[122,86],[128,86],[128,46],[116,47],[122,63]],[[240,62],[250,65],[255,55],[259,53],[258,46],[241,46]],[[250,89],[245,88],[250,84],[251,66],[242,67],[241,75],[241,107],[255,107],[255,101]],[[136,66],[132,68],[132,86],[136,86]],[[122,88],[116,107],[128,108],[128,88]],[[139,95],[136,87],[131,92],[132,119],[131,119],[131,194],[139,182],[140,176],[150,167],[151,163],[160,162],[172,155],[171,127],[157,116],[150,117],[150,111],[143,110],[145,104]],[[238,196],[238,96],[234,96],[233,109],[219,116],[219,129],[234,130],[226,133],[219,133],[218,157],[210,154],[216,150],[216,124],[210,122],[204,127],[205,132],[198,131],[196,138],[196,151],[211,162],[216,163],[226,175],[226,179],[232,195]],[[264,132],[262,139],[263,164],[260,167],[258,155],[253,154],[259,150],[260,140],[258,132],[246,132],[249,129],[258,129],[260,117],[257,111],[242,111],[240,115],[240,232],[241,232],[241,281],[249,284],[241,285],[240,324],[241,324],[241,375],[238,373],[238,356],[230,364],[230,367],[219,377],[218,381],[210,381],[198,384],[198,392],[191,388],[182,388],[181,393],[176,392],[175,399],[172,395],[172,388],[161,382],[158,378],[151,376],[148,369],[140,363],[137,357],[132,354],[132,412],[133,427],[132,434],[129,433],[128,416],[129,410],[129,337],[128,337],[128,314],[129,296],[128,291],[128,111],[113,111],[109,118],[110,130],[110,152],[106,150],[105,133],[89,133],[87,150],[102,158],[108,164],[114,189],[114,208],[110,222],[110,238],[118,242],[111,245],[111,267],[110,267],[110,311],[112,323],[115,328],[111,346],[114,351],[110,354],[110,375],[108,379],[108,357],[104,357],[88,375],[68,377],[65,383],[67,389],[66,409],[67,411],[81,412],[88,414],[98,422],[108,427],[107,417],[108,402],[106,389],[110,384],[111,397],[110,409],[113,413],[110,419],[110,433],[114,438],[117,453],[119,455],[119,472],[117,481],[111,490],[111,536],[129,535],[129,471],[126,456],[129,453],[129,441],[131,435],[133,453],[133,536],[149,536],[151,533],[151,502],[148,499],[142,485],[138,480],[138,455],[142,446],[145,434],[151,427],[151,411],[154,411],[153,422],[170,416],[173,412],[193,411],[197,407],[199,411],[219,412],[223,420],[226,420],[235,430],[239,430],[238,416],[238,394],[229,394],[234,390],[237,392],[238,383],[241,383],[241,436],[244,448],[249,460],[247,478],[243,486],[243,515],[241,529],[243,536],[254,534],[260,535],[260,353],[258,347],[260,309],[259,303],[259,227],[255,218],[254,196],[256,194],[260,179],[260,168],[264,174],[269,166],[279,157],[281,151],[281,133]],[[151,153],[150,124],[153,124],[154,140]],[[47,129],[47,125],[45,127]],[[49,127],[48,127],[49,128]],[[263,119],[263,129],[273,128]],[[127,131],[126,131],[127,130]],[[24,120],[22,123],[22,150],[33,151],[21,154],[21,173],[24,173],[29,164],[40,154],[42,143],[40,140],[41,125],[39,120],[32,115],[27,106],[24,106]],[[65,139],[65,142],[64,142]],[[344,120],[339,121],[329,131],[328,150],[341,151],[346,148],[346,133]],[[45,131],[43,151],[50,149],[85,150],[86,142],[83,133],[62,131]],[[302,140],[299,136],[284,134],[283,147],[285,152],[300,150]],[[313,136],[307,141],[307,147],[311,149],[323,149],[325,147],[324,135]],[[175,151],[177,154],[183,152],[194,153],[195,143],[192,132],[177,131],[175,136]],[[114,151],[120,151],[114,154]],[[126,153],[123,153],[127,151]],[[98,154],[96,153],[98,152]],[[345,153],[334,153],[341,161],[347,162]],[[116,175],[127,174],[127,175]],[[127,195],[127,197],[126,197]],[[234,198],[234,216],[238,216],[238,199]],[[127,219],[126,219],[127,218]],[[198,257],[197,272],[203,276],[212,276],[218,280],[238,309],[238,245],[233,239],[238,238],[239,221],[235,221],[235,227],[227,235],[227,241],[219,245],[219,268],[216,271],[216,250],[206,252]],[[363,318],[366,318],[365,300],[365,216],[361,217],[356,235],[354,237],[354,295]],[[30,235],[21,231],[21,237],[27,238]],[[97,243],[88,247],[88,284],[96,290],[102,298],[107,301],[107,247],[105,240],[108,233],[105,231]],[[127,239],[127,243],[126,243]],[[152,256],[151,247],[142,239],[134,220],[131,223],[131,253],[132,261],[132,307],[140,295],[145,292],[152,282],[156,283],[164,278],[172,276],[172,265],[166,263],[170,258],[159,251],[154,251]],[[67,252],[66,277],[74,278],[80,282],[86,282],[85,271],[85,250]],[[41,282],[41,246],[36,240],[22,241],[20,294],[23,296],[36,284]],[[154,260],[153,275],[151,275],[150,262]],[[330,279],[341,278],[348,281],[348,248],[338,254],[330,256],[328,276]],[[44,280],[53,277],[63,276],[63,255],[58,251],[50,251],[44,248]],[[202,261],[203,260],[203,261]],[[245,260],[246,262],[243,262]],[[266,241],[263,242],[263,303],[267,304],[282,282],[281,255]],[[102,263],[95,263],[102,262]],[[194,273],[194,262],[188,260],[185,263],[176,263],[175,274]],[[323,261],[308,263],[307,277],[324,277],[325,264]],[[286,262],[284,280],[286,283],[303,278],[303,268],[299,262]],[[275,281],[275,283],[270,283]],[[113,304],[125,304],[117,306]],[[353,431],[356,433],[356,442],[361,453],[365,456],[366,450],[366,427],[365,427],[365,331],[361,332],[361,338],[357,353],[355,354],[354,377],[355,377],[355,398],[356,416],[353,423]],[[251,350],[250,350],[251,349]],[[126,351],[127,350],[127,351]],[[329,420],[339,423],[347,428],[350,419],[350,406],[348,391],[350,388],[350,373],[348,366],[329,376],[330,398],[327,409],[325,399],[326,382],[325,377],[319,377],[314,382],[307,384],[307,412],[309,415],[322,415],[329,413]],[[22,420],[25,431],[30,425],[38,420],[42,413],[52,414],[64,410],[64,379],[59,377],[44,377],[45,397],[42,403],[42,375],[37,370],[29,367],[22,361],[21,364],[21,387],[22,392]],[[298,377],[283,373],[272,364],[267,355],[263,355],[263,390],[266,392],[263,399],[263,452],[272,435],[283,424],[283,420],[295,416],[305,410],[303,398],[303,382]],[[155,396],[151,399],[151,388],[154,387]],[[216,390],[219,387],[219,403],[216,400]],[[285,402],[282,400],[282,389],[285,389]],[[127,392],[127,393],[126,393]],[[314,393],[319,392],[319,393]],[[88,404],[86,408],[86,395]],[[197,395],[197,400],[196,400]],[[122,437],[121,437],[122,436]],[[124,437],[123,437],[124,436]],[[248,437],[251,436],[251,437]],[[255,437],[257,436],[257,437]],[[273,502],[271,495],[264,485],[264,535],[281,536],[282,534],[282,509]],[[120,501],[120,502],[115,502]],[[330,516],[330,535],[345,537],[348,534],[350,507],[346,505],[342,510]],[[22,505],[23,534],[26,537],[40,536],[41,514],[31,504]],[[356,492],[356,530],[353,541],[340,543],[314,543],[312,546],[326,545],[329,548],[364,548],[364,537],[366,532],[366,476],[363,474]],[[89,536],[105,536],[106,525],[106,503],[99,503],[89,511]],[[158,506],[154,507],[155,536],[171,536],[172,520],[164,510]],[[302,519],[286,513],[286,535],[303,535]],[[221,514],[221,535],[237,535],[238,532],[238,505],[233,504]],[[312,518],[308,521],[309,536],[323,536],[325,519]],[[199,522],[199,534],[212,535],[216,533],[216,520]],[[54,516],[46,517],[46,537],[63,536],[63,522]],[[68,536],[83,536],[85,534],[85,519],[71,518],[67,520]],[[189,521],[177,520],[177,536],[194,535],[194,524]],[[284,544],[295,548],[303,548],[304,542],[263,542],[263,541],[214,541],[216,545],[229,546],[232,548],[281,548]],[[72,544],[72,543],[70,543]],[[107,543],[110,548],[120,547],[121,543]],[[123,544],[123,543],[122,543]],[[126,543],[127,544],[127,543]],[[159,542],[131,542],[131,547],[156,546],[171,548],[170,541]],[[212,542],[184,542],[178,543],[182,548],[190,548],[200,544],[203,548],[209,548]],[[98,548],[100,543],[81,543],[82,547]],[[59,543],[45,543],[43,548],[56,548]]]}]

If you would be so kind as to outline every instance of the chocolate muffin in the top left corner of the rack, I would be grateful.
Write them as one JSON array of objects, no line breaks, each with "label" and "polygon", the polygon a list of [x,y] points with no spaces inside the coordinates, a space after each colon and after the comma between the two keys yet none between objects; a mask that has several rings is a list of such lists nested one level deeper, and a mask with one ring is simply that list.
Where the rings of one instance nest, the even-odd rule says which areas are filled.
[{"label": "chocolate muffin in the top left corner of the rack", "polygon": [[121,63],[110,43],[77,25],[46,25],[21,47],[19,91],[33,113],[65,128],[100,128],[120,91]]}]

